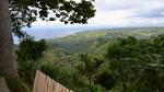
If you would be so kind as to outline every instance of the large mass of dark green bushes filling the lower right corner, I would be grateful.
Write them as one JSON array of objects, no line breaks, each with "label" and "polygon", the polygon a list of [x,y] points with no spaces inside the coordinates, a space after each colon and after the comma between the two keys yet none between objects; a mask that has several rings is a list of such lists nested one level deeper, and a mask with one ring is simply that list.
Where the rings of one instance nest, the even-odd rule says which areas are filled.
[{"label": "large mass of dark green bushes filling the lower right corner", "polygon": [[[124,92],[162,92],[164,36],[150,39],[129,37],[110,45],[105,57],[112,77]],[[161,66],[160,66],[161,65]]]}]

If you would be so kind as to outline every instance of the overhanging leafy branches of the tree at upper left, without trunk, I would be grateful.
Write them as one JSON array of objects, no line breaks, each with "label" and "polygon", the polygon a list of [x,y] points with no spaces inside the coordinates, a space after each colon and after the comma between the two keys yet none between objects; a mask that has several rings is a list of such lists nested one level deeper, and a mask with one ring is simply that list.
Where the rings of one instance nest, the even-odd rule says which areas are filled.
[{"label": "overhanging leafy branches of the tree at upper left, without trunk", "polygon": [[22,27],[30,27],[38,18],[59,20],[65,24],[85,24],[95,14],[93,0],[10,0],[10,11],[12,32],[19,37],[25,36]]}]

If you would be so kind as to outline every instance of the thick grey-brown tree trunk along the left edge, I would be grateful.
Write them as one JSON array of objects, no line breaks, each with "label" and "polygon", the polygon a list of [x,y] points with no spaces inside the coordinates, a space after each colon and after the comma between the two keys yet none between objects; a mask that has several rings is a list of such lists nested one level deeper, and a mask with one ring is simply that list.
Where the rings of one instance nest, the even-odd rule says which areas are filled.
[{"label": "thick grey-brown tree trunk along the left edge", "polygon": [[17,77],[9,0],[0,0],[0,76]]}]

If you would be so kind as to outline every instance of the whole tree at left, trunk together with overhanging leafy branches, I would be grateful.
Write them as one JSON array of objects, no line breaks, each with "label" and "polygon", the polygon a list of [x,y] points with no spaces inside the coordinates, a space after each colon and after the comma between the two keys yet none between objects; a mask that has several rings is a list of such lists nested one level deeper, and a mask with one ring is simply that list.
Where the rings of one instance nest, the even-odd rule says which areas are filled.
[{"label": "whole tree at left, trunk together with overhanging leafy branches", "polygon": [[[93,1],[82,0],[0,0],[0,76],[17,77],[12,32],[23,37],[21,31],[39,16],[45,21],[59,20],[66,24],[87,23],[94,16]],[[49,18],[52,12],[54,16]]]}]

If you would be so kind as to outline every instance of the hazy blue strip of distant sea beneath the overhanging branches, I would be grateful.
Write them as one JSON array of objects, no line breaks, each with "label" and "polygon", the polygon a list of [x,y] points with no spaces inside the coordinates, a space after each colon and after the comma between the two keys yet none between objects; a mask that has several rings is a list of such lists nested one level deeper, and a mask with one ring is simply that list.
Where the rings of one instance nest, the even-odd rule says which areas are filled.
[{"label": "hazy blue strip of distant sea beneath the overhanging branches", "polygon": [[[89,25],[81,25],[81,26],[33,26],[33,27],[25,27],[27,34],[34,36],[35,39],[40,38],[58,38],[63,37],[67,35],[71,35],[78,32],[84,31],[94,31],[99,28],[112,28],[109,26],[89,26]],[[14,36],[14,44],[19,43],[19,38]]]}]

